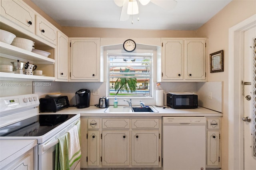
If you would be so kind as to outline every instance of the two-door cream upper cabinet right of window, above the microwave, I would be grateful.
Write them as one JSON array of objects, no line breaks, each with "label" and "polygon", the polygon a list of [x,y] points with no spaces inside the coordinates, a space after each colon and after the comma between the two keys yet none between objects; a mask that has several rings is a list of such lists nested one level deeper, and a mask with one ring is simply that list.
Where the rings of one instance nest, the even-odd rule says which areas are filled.
[{"label": "two-door cream upper cabinet right of window, above the microwave", "polygon": [[158,81],[206,81],[206,38],[162,38]]}]

